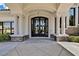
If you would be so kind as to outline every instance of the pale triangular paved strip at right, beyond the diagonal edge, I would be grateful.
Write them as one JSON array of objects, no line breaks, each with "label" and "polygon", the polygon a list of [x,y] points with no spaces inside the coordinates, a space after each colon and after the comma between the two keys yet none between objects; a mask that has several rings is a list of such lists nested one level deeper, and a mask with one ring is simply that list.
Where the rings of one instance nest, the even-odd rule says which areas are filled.
[{"label": "pale triangular paved strip at right, beyond the diagonal edge", "polygon": [[58,42],[62,47],[71,52],[75,56],[79,56],[79,43],[74,42]]}]

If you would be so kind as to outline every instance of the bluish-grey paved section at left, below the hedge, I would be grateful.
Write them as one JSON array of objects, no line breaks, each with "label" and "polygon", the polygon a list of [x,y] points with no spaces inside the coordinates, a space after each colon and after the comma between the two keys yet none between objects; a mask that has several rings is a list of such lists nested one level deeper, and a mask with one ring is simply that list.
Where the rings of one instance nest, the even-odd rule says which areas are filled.
[{"label": "bluish-grey paved section at left, below the hedge", "polygon": [[0,55],[5,55],[11,49],[15,48],[19,42],[1,42],[0,43]]}]

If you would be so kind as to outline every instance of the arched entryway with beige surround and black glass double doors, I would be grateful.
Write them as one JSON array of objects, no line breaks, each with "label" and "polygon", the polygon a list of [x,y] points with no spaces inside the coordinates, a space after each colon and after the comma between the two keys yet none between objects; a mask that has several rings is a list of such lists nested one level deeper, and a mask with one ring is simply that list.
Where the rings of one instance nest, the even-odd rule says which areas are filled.
[{"label": "arched entryway with beige surround and black glass double doors", "polygon": [[[27,31],[28,33],[27,34],[29,34],[30,38],[50,38],[51,35],[54,34],[54,16],[55,16],[54,13],[52,13],[52,12],[50,13],[47,10],[38,10],[37,9],[37,10],[31,10],[27,14],[28,14],[28,16],[26,16],[27,17],[26,20],[28,19],[28,21],[27,21],[28,23],[26,23],[28,25],[27,26],[27,28],[28,28],[28,31]],[[33,29],[32,29],[32,27],[34,26],[33,24],[34,23],[38,24],[38,23],[36,23],[37,21],[33,21],[35,19],[39,19],[38,23],[40,23],[40,22],[44,22],[45,23],[47,21],[47,25],[48,26],[46,27],[47,30],[45,29],[44,32],[43,32],[43,30],[38,29],[39,32],[36,32],[36,33],[38,33],[39,35],[34,35],[33,36],[33,34],[35,34],[35,30],[33,32]],[[41,19],[47,19],[47,20],[43,21]],[[31,24],[32,22],[34,22],[34,23]],[[37,25],[37,26],[39,28],[43,27],[41,25]]]}]

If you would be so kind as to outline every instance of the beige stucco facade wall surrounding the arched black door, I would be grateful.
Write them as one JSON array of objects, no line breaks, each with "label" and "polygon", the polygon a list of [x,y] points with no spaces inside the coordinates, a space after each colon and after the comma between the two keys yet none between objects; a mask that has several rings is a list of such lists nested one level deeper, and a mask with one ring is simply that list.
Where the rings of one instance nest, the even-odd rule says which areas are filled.
[{"label": "beige stucco facade wall surrounding the arched black door", "polygon": [[[68,9],[72,4],[60,4],[59,8],[56,4],[7,4],[11,9],[8,14],[0,14],[2,21],[15,21],[18,19],[18,34],[31,34],[31,18],[36,16],[47,17],[49,20],[49,36],[55,34],[54,18],[69,16]],[[68,8],[68,9],[67,9]],[[61,11],[62,10],[62,11]],[[5,16],[4,16],[5,15]],[[7,16],[6,16],[7,15]],[[1,21],[1,20],[0,20]],[[16,27],[16,26],[15,26]],[[16,31],[16,29],[15,29]]]}]

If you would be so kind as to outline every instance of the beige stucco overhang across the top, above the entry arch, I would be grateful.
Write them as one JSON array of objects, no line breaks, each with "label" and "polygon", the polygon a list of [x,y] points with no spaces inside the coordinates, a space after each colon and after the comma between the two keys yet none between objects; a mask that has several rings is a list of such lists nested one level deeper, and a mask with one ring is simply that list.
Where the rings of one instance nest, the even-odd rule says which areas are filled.
[{"label": "beige stucco overhang across the top, above the entry arch", "polygon": [[[72,3],[6,3],[11,14],[23,14],[30,10],[47,10],[50,12],[60,12],[68,10]],[[61,12],[62,12],[61,11]]]}]

